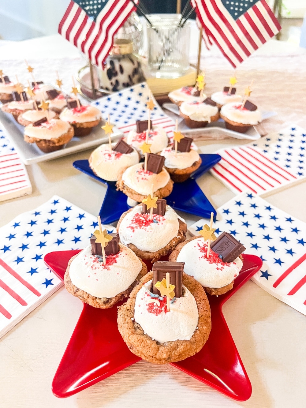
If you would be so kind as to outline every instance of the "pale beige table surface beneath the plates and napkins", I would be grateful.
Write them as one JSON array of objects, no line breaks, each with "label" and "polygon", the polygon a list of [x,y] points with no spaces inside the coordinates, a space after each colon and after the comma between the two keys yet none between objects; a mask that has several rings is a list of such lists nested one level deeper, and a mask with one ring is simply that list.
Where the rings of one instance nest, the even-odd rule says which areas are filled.
[{"label": "pale beige table surface beneath the plates and napkins", "polygon": [[[266,50],[272,46],[267,45]],[[288,49],[288,44],[284,44],[284,47],[277,44],[277,47],[279,49],[275,53],[283,53],[284,59],[292,54],[296,62],[304,61],[303,51]],[[275,50],[275,47],[272,48]],[[263,50],[262,55],[265,53],[267,51]],[[32,66],[33,62],[42,64],[44,60],[50,59],[50,62],[53,58],[52,75],[55,69],[59,69],[66,78],[71,77],[75,67],[82,65],[78,51],[58,36],[0,47],[0,65],[9,73],[10,67],[18,69],[21,80],[24,57],[30,60]],[[250,67],[252,69],[252,58],[247,62],[245,70],[240,68],[244,75]],[[258,55],[253,58],[255,65],[258,58]],[[208,57],[204,59],[208,66],[212,60],[214,67],[220,64],[222,76],[232,72],[229,66],[224,67],[218,55],[211,60]],[[46,76],[49,79],[51,68],[46,62],[44,64],[46,70],[38,67],[37,71],[44,72],[44,79]],[[300,67],[300,64],[296,66]],[[214,76],[214,69],[208,70],[208,76],[211,78],[208,86],[216,88],[220,79]],[[292,97],[295,90],[290,88],[290,84],[286,86],[289,88],[284,88],[284,98],[286,93]],[[301,87],[305,87],[305,76]],[[300,89],[296,92],[300,92]],[[268,100],[273,95],[268,91],[265,97]],[[295,102],[305,115],[305,106],[301,107],[297,98]],[[222,146],[236,143],[230,140],[218,144],[199,142],[198,145],[202,153],[212,153]],[[98,214],[105,194],[104,186],[72,167],[74,160],[86,159],[89,153],[85,151],[28,166],[33,194],[0,203],[0,226],[16,215],[44,203],[53,194],[64,197],[92,214]],[[233,197],[231,191],[209,174],[202,176],[199,184],[215,208]],[[266,200],[306,221],[305,186],[303,183],[288,188]],[[190,225],[198,218],[186,215],[186,220]],[[1,408],[306,407],[306,317],[268,295],[253,282],[247,282],[223,309],[253,386],[252,396],[245,402],[233,401],[174,367],[155,366],[145,361],[67,399],[54,397],[51,392],[53,375],[81,309],[79,299],[62,288],[0,339]]]}]

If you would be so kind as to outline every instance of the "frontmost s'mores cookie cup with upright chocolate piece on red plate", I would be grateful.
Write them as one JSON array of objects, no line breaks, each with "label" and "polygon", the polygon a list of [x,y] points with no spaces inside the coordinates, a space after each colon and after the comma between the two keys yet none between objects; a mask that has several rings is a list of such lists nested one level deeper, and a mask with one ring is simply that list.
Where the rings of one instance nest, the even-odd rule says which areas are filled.
[{"label": "frontmost s'mores cookie cup with upright chocolate piece on red plate", "polygon": [[118,308],[118,330],[132,353],[155,364],[198,353],[211,331],[206,293],[184,262],[155,262]]}]

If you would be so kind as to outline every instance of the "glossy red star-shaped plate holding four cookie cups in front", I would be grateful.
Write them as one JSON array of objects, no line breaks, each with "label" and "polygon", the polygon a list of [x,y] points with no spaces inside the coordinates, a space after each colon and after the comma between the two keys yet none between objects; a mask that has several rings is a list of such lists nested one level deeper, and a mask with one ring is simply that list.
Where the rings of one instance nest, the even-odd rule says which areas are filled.
[{"label": "glossy red star-shaped plate holding four cookie cups in front", "polygon": [[[80,250],[51,252],[44,257],[44,262],[63,279],[69,259],[78,252]],[[151,264],[148,266],[151,268]],[[261,266],[259,257],[244,255],[243,268],[233,289],[219,297],[209,296],[212,329],[208,341],[193,357],[172,364],[237,401],[249,399],[252,386],[222,314],[222,306]],[[118,331],[117,307],[97,309],[84,304],[55,373],[53,394],[69,397],[139,360]]]}]

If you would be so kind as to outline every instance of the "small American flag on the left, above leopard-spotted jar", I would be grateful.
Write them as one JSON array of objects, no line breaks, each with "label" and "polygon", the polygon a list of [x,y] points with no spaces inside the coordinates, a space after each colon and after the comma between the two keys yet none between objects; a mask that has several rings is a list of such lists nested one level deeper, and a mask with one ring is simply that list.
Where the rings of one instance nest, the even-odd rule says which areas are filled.
[{"label": "small American flag on the left, above leopard-spotted jar", "polygon": [[113,45],[113,35],[134,9],[130,0],[74,0],[69,3],[58,32],[102,67]]}]

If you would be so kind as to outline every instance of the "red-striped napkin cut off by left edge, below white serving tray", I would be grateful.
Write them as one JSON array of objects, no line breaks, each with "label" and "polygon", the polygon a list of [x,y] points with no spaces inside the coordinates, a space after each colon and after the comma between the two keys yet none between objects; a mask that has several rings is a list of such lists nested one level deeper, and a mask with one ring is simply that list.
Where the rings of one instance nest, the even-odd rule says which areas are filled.
[{"label": "red-striped napkin cut off by left edge, below white serving tray", "polygon": [[27,170],[11,140],[0,128],[0,201],[32,194]]}]

